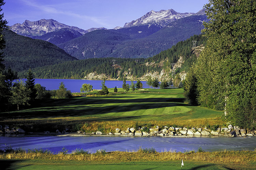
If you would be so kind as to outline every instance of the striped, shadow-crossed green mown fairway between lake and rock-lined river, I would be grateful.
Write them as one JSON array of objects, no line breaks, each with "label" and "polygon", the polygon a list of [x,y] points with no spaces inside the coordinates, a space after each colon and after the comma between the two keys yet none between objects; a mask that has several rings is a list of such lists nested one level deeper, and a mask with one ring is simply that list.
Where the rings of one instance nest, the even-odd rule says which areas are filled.
[{"label": "striped, shadow-crossed green mown fairway between lake and rock-lined river", "polygon": [[[118,88],[118,91],[123,89]],[[94,91],[95,92],[95,91]],[[37,106],[2,113],[1,122],[22,123],[79,123],[85,121],[170,121],[190,122],[219,119],[222,111],[183,103],[181,89],[144,89],[111,96],[92,96],[71,99],[44,99]]]}]

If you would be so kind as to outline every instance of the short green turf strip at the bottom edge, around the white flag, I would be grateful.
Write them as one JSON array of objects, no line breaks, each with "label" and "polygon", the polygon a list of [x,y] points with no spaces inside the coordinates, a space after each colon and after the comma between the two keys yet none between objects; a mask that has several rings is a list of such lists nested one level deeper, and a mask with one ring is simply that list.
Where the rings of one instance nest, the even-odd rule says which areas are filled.
[{"label": "short green turf strip at the bottom edge, around the white flag", "polygon": [[[6,169],[19,170],[177,170],[181,169],[181,161],[165,161],[165,162],[75,162],[75,161],[41,161],[41,160],[6,160],[5,163],[0,161],[0,165]],[[226,165],[218,165],[207,162],[185,161],[183,170],[200,169],[200,170],[225,170]],[[249,167],[244,167],[250,169]],[[252,168],[253,169],[253,168]]]}]

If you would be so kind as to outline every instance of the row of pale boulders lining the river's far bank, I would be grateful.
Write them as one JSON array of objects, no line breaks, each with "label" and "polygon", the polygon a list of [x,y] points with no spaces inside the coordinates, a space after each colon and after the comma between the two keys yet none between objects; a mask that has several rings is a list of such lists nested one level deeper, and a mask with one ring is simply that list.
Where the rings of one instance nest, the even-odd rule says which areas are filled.
[{"label": "row of pale boulders lining the river's far bank", "polygon": [[[178,135],[197,135],[197,136],[208,136],[208,135],[216,135],[216,136],[254,136],[256,135],[256,131],[247,131],[246,129],[241,129],[238,126],[228,125],[227,128],[217,128],[217,130],[213,131],[205,128],[182,128],[182,127],[170,127],[164,126],[163,129],[159,129],[159,126],[155,128],[150,128],[149,133],[146,132],[147,128],[142,127],[139,130],[135,130],[134,128],[127,128],[125,131],[121,131],[119,128],[116,128],[115,133],[109,133],[109,135],[116,136],[178,136]],[[101,135],[100,131],[95,133],[96,135]]]}]

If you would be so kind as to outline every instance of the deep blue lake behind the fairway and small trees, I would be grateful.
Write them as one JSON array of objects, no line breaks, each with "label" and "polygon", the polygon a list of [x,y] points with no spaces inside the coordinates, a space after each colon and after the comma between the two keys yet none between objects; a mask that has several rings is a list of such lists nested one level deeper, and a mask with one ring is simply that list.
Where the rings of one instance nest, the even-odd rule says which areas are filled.
[{"label": "deep blue lake behind the fairway and small trees", "polygon": [[[24,82],[27,79],[22,79]],[[101,80],[77,80],[77,79],[35,79],[35,84],[39,83],[41,86],[46,87],[47,90],[57,90],[59,88],[60,82],[63,82],[65,84],[65,87],[70,90],[71,92],[80,92],[80,88],[82,87],[82,84],[90,84],[93,85],[93,89],[101,89]],[[137,81],[133,81],[136,83]],[[149,88],[149,86],[146,84],[146,81],[141,81],[143,84],[143,88]],[[129,85],[131,84],[131,81],[126,81]],[[123,81],[118,80],[106,80],[105,85],[108,88],[114,88],[115,86],[117,88],[122,88]]]}]

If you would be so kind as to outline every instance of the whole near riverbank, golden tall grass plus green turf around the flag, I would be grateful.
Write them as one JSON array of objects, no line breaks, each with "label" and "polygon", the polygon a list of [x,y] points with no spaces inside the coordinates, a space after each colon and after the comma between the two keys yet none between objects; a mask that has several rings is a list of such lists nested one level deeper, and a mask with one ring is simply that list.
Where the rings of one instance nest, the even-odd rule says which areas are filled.
[{"label": "whole near riverbank, golden tall grass plus green turf around the flag", "polygon": [[105,154],[0,154],[0,164],[19,169],[255,169],[255,151]]}]

